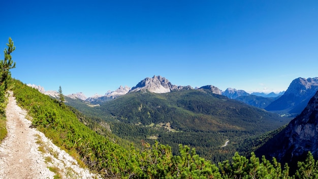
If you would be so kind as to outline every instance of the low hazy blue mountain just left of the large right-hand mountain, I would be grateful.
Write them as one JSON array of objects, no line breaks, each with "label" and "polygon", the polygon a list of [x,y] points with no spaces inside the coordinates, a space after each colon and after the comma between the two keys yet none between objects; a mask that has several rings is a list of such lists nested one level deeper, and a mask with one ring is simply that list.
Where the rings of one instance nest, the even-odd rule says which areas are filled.
[{"label": "low hazy blue mountain just left of the large right-hand mountain", "polygon": [[239,96],[235,100],[242,101],[245,104],[249,104],[259,108],[265,108],[277,98],[266,98],[256,95]]}]

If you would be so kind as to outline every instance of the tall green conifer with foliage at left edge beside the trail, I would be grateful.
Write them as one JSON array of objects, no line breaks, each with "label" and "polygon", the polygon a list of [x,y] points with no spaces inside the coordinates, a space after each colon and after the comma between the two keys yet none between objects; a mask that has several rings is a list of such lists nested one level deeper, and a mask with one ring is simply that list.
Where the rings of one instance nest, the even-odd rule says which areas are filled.
[{"label": "tall green conifer with foliage at left edge beside the trail", "polygon": [[15,68],[15,63],[12,61],[11,53],[15,50],[14,43],[9,37],[8,49],[5,48],[5,59],[0,61],[0,142],[7,135],[5,110],[8,103],[7,92],[11,85],[10,69]]}]

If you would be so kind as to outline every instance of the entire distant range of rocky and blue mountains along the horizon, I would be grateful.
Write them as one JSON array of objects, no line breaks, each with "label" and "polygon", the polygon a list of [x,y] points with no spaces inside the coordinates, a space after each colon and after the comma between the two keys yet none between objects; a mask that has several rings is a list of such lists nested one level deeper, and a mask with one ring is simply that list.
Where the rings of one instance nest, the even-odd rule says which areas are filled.
[{"label": "entire distant range of rocky and blue mountains along the horizon", "polygon": [[[56,97],[58,94],[54,91],[44,91],[41,86],[30,85],[41,93]],[[264,108],[267,111],[280,113],[281,115],[295,116],[299,114],[309,99],[318,90],[318,78],[297,78],[294,79],[286,92],[280,92],[278,94],[270,93],[247,93],[243,90],[236,90],[234,88],[227,88],[226,91],[221,91],[219,88],[213,85],[206,85],[195,88],[196,90],[210,90],[213,94],[226,96],[230,99],[242,101],[246,104]],[[76,93],[67,95],[73,99],[80,99],[87,101],[91,104],[101,104],[106,101],[113,100],[128,93],[134,93],[138,91],[149,91],[151,93],[162,94],[170,93],[178,90],[194,90],[191,86],[177,86],[172,84],[168,79],[162,76],[153,76],[152,78],[145,78],[141,80],[136,86],[120,86],[115,91],[108,91],[105,95],[94,95],[86,98],[83,93]]]}]

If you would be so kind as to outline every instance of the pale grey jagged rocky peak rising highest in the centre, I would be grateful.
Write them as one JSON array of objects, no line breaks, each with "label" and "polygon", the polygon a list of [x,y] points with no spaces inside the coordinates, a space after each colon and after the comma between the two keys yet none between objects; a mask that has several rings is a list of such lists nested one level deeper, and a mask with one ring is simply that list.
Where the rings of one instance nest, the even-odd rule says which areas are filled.
[{"label": "pale grey jagged rocky peak rising highest in the centre", "polygon": [[153,76],[152,78],[145,78],[134,86],[130,92],[137,92],[140,90],[148,90],[152,93],[169,93],[174,90],[189,90],[193,89],[191,86],[177,86],[173,85],[166,78],[161,76]]}]

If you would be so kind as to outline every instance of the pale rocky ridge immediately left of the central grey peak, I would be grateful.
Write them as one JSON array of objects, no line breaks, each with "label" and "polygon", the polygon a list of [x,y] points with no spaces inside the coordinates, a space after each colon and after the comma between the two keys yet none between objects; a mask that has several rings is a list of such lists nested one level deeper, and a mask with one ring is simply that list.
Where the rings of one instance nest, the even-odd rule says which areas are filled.
[{"label": "pale rocky ridge immediately left of the central grey peak", "polygon": [[85,101],[90,102],[92,104],[103,103],[112,99],[115,99],[119,96],[127,94],[131,88],[129,86],[119,86],[119,88],[115,91],[108,91],[105,95],[94,95],[92,97],[87,98]]}]

